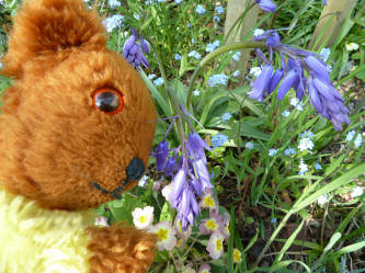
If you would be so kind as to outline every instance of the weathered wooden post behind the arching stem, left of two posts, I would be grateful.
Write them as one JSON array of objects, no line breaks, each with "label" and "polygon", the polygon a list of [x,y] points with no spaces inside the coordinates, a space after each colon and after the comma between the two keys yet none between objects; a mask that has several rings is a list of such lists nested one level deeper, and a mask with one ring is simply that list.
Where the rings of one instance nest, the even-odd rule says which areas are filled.
[{"label": "weathered wooden post behind the arching stem, left of two posts", "polygon": [[[249,8],[254,0],[228,0],[227,5],[227,15],[225,22],[225,37],[227,37],[229,30],[235,24],[237,19],[244,12],[247,8]],[[251,10],[246,14],[243,22],[239,29],[237,26],[230,33],[227,38],[226,44],[230,44],[233,42],[243,41],[243,37],[252,30],[252,27],[256,24],[259,8],[256,7],[251,8]],[[247,65],[249,61],[250,52],[249,50],[241,50],[241,58],[240,61],[232,60],[229,65],[232,70],[240,70],[242,75],[247,71]]]}]

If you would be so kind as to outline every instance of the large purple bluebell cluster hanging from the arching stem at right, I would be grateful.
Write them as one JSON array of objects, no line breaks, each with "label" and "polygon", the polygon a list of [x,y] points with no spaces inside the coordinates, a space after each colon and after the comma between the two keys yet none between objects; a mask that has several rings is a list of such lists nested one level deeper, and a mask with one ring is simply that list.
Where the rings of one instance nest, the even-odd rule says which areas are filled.
[{"label": "large purple bluebell cluster hanging from the arching stem at right", "polygon": [[[281,55],[282,70],[286,76],[277,90],[278,100],[283,100],[289,89],[294,88],[299,100],[308,93],[310,103],[319,114],[332,122],[337,130],[342,130],[343,124],[350,124],[349,110],[344,105],[341,94],[331,83],[326,62],[318,55],[281,44],[280,36],[275,31],[266,31],[254,37],[254,41],[266,42],[270,60],[266,59],[261,49],[256,49],[258,58],[267,62],[265,67],[271,66],[274,50]],[[281,81],[281,75],[276,75],[276,72],[273,76],[267,76],[267,78],[259,76],[261,81],[253,83],[254,92],[252,91],[250,98],[262,102],[265,89],[267,88],[267,93],[271,93]],[[308,79],[305,75],[308,75]],[[270,82],[269,87],[266,87],[266,81]]]}]

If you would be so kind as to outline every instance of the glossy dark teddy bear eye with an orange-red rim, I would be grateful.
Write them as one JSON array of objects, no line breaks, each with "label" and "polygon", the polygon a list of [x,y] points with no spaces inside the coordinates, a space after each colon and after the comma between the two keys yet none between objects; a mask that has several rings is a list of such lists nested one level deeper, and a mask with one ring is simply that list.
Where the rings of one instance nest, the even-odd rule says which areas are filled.
[{"label": "glossy dark teddy bear eye with an orange-red rim", "polygon": [[104,112],[107,115],[116,115],[123,110],[124,100],[123,95],[109,88],[102,88],[96,90],[92,94],[94,107]]}]

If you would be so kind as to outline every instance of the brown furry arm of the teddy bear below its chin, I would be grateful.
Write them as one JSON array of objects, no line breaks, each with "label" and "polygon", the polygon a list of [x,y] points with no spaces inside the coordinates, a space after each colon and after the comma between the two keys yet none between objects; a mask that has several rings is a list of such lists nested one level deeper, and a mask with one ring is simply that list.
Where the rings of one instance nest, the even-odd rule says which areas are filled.
[{"label": "brown furry arm of the teddy bear below its chin", "polygon": [[111,228],[90,228],[90,273],[146,272],[155,258],[155,235],[114,225]]}]

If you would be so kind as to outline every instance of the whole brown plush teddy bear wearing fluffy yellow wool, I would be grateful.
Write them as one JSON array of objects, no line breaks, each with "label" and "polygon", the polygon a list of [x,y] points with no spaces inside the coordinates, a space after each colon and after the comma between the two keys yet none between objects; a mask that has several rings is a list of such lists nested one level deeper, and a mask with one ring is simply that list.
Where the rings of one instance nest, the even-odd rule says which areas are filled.
[{"label": "whole brown plush teddy bear wearing fluffy yellow wool", "polygon": [[95,227],[147,168],[157,112],[82,0],[26,0],[1,60],[0,273],[141,273],[156,236]]}]

